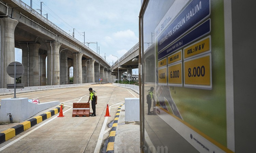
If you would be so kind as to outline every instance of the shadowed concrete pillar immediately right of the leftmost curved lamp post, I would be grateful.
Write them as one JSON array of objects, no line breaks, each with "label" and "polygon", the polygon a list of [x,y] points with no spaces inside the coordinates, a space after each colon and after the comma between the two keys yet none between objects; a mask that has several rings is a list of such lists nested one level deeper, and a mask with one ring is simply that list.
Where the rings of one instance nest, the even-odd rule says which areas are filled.
[{"label": "shadowed concrete pillar immediately right of the leftmost curved lamp post", "polygon": [[68,54],[60,53],[60,84],[69,84]]}]

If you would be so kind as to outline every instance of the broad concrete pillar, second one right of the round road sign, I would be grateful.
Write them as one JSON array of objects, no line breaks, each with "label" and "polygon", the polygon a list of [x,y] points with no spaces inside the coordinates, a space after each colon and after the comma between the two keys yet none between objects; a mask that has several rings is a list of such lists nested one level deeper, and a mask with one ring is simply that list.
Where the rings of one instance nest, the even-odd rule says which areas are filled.
[{"label": "broad concrete pillar, second one right of the round road sign", "polygon": [[28,86],[39,86],[39,50],[40,44],[39,43],[30,43],[28,44],[28,54],[29,54],[29,61],[28,61]]}]

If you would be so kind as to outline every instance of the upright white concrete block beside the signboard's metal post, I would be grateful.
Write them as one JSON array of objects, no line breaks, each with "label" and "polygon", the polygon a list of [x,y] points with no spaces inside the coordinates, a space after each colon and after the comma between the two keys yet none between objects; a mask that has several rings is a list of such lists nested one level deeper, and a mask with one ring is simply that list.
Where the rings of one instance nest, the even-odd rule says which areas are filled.
[{"label": "upright white concrete block beside the signboard's metal post", "polygon": [[125,98],[125,121],[140,121],[140,99]]}]

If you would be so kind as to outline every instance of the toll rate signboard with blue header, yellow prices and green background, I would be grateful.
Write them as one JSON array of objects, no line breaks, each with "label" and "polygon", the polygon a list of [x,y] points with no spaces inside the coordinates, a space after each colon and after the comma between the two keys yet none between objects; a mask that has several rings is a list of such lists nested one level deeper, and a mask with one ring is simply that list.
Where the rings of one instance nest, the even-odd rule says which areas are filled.
[{"label": "toll rate signboard with blue header, yellow prices and green background", "polygon": [[155,29],[157,115],[200,152],[233,143],[221,4],[176,0]]}]

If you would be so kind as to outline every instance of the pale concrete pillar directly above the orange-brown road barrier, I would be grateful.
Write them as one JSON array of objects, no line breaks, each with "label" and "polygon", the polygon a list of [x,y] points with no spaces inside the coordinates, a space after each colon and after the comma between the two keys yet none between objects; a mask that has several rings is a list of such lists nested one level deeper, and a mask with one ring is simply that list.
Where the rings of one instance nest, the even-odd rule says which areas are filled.
[{"label": "pale concrete pillar directly above the orange-brown road barrier", "polygon": [[73,53],[73,84],[83,83],[82,53]]}]

